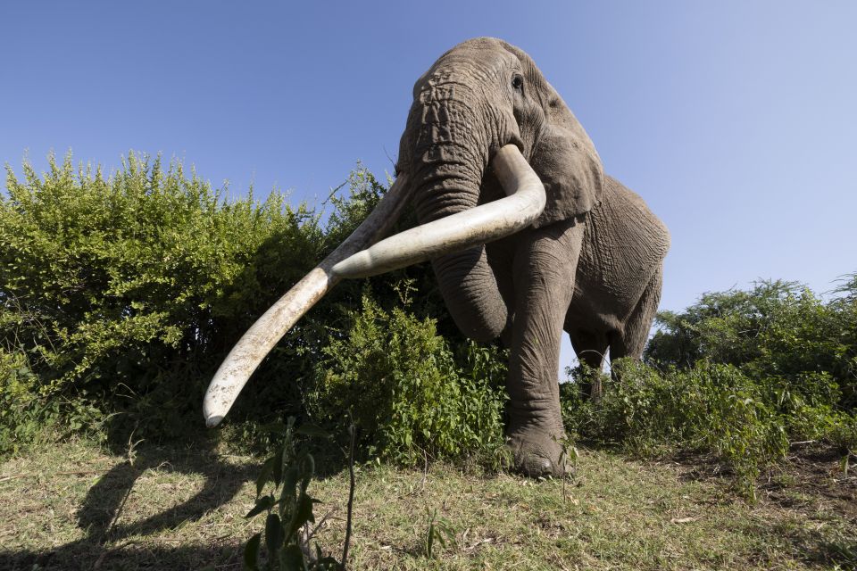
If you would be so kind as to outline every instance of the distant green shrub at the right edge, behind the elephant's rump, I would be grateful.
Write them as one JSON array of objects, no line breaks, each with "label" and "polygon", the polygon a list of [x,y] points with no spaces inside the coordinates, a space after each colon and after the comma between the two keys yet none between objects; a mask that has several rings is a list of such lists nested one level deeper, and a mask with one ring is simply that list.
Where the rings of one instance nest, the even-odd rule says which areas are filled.
[{"label": "distant green shrub at the right edge, behind the elephant's rump", "polygon": [[753,379],[792,440],[820,440],[847,456],[857,450],[857,274],[827,302],[782,281],[705,294],[682,313],[662,312],[647,356],[694,368],[728,363]]}]

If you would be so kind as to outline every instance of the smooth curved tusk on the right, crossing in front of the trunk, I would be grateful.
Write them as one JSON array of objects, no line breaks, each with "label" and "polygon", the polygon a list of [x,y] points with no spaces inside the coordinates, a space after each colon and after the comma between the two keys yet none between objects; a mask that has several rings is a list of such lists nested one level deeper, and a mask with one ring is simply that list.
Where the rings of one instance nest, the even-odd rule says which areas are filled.
[{"label": "smooth curved tusk on the right, crossing in front of the trunk", "polygon": [[505,198],[456,212],[381,240],[333,267],[337,277],[368,277],[404,268],[527,228],[545,210],[545,186],[515,145],[491,161]]}]

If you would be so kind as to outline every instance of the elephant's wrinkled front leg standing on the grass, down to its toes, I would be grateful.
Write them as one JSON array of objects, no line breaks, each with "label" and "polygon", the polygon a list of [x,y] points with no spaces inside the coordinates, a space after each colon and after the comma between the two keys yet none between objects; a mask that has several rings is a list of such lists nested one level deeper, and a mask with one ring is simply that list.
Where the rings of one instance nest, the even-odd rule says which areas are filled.
[{"label": "elephant's wrinkled front leg standing on the grass, down to its toes", "polygon": [[564,473],[556,371],[583,229],[578,219],[532,230],[515,256],[508,433],[516,467],[531,476]]}]

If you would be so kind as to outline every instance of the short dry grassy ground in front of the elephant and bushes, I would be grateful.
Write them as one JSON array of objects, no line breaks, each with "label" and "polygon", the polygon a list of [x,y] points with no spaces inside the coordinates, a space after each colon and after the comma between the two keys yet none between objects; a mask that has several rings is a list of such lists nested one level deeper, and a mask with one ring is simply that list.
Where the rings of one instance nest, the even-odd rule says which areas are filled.
[{"label": "short dry grassy ground in front of the elephant and bushes", "polygon": [[[129,458],[133,461],[129,461]],[[2,569],[240,569],[258,459],[63,443],[0,466]],[[355,569],[857,568],[854,477],[795,458],[749,504],[704,466],[581,451],[578,477],[532,482],[449,466],[357,473]],[[341,549],[347,471],[313,484]],[[437,510],[437,515],[432,516]],[[429,520],[445,546],[426,555]]]}]

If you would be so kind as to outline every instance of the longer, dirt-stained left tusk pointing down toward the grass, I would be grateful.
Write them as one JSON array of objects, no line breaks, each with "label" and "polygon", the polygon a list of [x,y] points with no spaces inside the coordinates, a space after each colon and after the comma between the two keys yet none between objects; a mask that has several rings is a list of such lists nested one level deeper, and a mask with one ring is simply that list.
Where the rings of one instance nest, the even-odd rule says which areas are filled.
[{"label": "longer, dirt-stained left tusk pointing down toward the grass", "polygon": [[279,298],[279,301],[247,330],[217,369],[208,390],[205,391],[203,414],[206,426],[220,424],[220,420],[229,412],[238,393],[265,355],[304,313],[337,285],[341,277],[333,274],[333,266],[372,244],[392,227],[401,215],[411,192],[404,176],[396,178],[375,210],[370,212],[351,236],[288,290],[287,294]]}]

